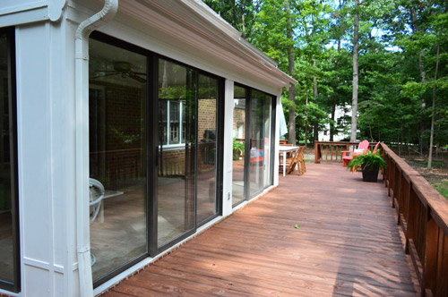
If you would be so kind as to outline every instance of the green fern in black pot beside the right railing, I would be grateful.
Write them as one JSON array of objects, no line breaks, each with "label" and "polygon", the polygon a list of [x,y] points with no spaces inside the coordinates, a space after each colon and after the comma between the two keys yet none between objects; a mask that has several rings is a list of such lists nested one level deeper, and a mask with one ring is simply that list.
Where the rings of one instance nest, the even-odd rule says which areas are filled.
[{"label": "green fern in black pot beside the right railing", "polygon": [[357,172],[358,167],[361,166],[363,181],[377,182],[379,170],[383,170],[386,167],[386,161],[384,161],[383,157],[381,157],[379,151],[379,149],[375,152],[367,151],[366,154],[353,157],[347,168],[351,172]]}]

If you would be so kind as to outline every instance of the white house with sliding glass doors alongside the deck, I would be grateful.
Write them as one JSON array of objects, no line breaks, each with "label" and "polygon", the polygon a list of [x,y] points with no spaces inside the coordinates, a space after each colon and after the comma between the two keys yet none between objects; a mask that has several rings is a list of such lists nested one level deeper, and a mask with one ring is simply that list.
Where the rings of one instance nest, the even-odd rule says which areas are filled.
[{"label": "white house with sliding glass doors alongside the deck", "polygon": [[0,293],[101,293],[278,184],[296,81],[201,1],[5,1],[0,23]]}]

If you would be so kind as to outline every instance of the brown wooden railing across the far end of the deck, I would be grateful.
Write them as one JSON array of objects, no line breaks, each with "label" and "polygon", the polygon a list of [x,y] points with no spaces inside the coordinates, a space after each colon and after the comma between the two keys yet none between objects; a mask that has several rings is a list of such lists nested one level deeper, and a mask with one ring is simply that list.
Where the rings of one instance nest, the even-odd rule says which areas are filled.
[{"label": "brown wooden railing across the far end of the deck", "polygon": [[[358,147],[359,142],[349,141],[315,141],[314,163],[342,163],[342,151],[353,150]],[[376,143],[369,145],[370,150],[375,148]]]}]

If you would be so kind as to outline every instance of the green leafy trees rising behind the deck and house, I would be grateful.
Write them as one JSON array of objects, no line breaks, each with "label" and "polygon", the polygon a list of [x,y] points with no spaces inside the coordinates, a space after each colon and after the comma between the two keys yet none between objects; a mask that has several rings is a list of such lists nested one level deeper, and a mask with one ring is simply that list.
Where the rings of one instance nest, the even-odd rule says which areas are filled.
[{"label": "green leafy trees rising behind the deck and house", "polygon": [[[288,49],[293,47],[292,75],[298,81],[296,100],[290,101],[285,90],[281,101],[287,121],[289,108],[295,109],[297,140],[303,142],[306,137],[313,140],[314,127],[322,131],[331,125],[332,134],[349,130],[355,13],[352,1],[204,2],[240,30],[244,38],[270,55],[283,72],[289,72]],[[361,3],[358,139],[418,144],[425,151],[435,91],[435,146],[447,146],[448,2],[363,0]],[[287,34],[289,20],[292,37]],[[346,115],[332,119],[336,108],[343,109]]]}]

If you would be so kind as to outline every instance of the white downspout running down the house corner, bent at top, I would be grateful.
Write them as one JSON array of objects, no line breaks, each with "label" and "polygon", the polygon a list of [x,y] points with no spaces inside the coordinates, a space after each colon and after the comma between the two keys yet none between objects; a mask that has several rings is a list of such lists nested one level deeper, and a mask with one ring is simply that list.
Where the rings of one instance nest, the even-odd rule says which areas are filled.
[{"label": "white downspout running down the house corner, bent at top", "polygon": [[74,90],[76,108],[76,251],[80,295],[93,296],[90,265],[89,215],[89,36],[93,30],[112,20],[118,0],[105,0],[103,9],[82,21],[74,41]]}]

